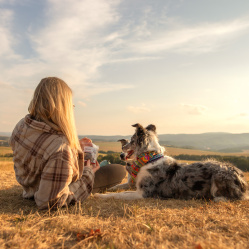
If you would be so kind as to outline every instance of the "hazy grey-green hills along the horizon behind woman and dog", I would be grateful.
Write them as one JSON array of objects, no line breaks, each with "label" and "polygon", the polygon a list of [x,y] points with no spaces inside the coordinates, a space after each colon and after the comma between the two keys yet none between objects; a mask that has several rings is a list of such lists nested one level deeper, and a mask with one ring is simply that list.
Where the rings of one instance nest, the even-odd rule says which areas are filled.
[{"label": "hazy grey-green hills along the horizon behind woman and dog", "polygon": [[[0,132],[0,136],[2,136],[0,140],[6,140],[6,137],[9,137],[10,133]],[[85,136],[80,135],[79,137],[83,138]],[[130,139],[131,136],[86,135],[86,137],[91,138],[93,141],[117,142],[123,138]],[[249,133],[208,132],[202,134],[160,134],[158,137],[160,144],[172,147],[229,153],[249,150]]]}]

